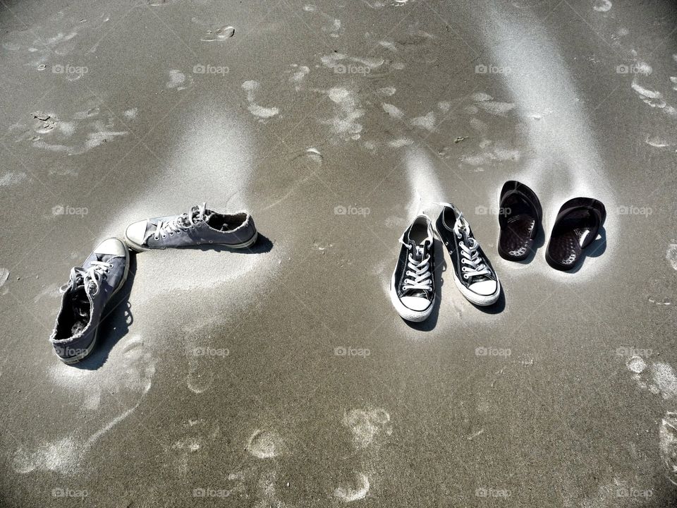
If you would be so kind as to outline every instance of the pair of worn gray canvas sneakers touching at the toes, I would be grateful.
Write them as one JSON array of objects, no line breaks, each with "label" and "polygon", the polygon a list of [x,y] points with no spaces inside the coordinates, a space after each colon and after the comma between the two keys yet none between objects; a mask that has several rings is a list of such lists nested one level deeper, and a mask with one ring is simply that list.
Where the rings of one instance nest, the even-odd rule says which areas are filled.
[{"label": "pair of worn gray canvas sneakers touching at the toes", "polygon": [[94,349],[104,308],[125,285],[129,273],[129,249],[143,250],[193,246],[248,248],[258,237],[247,212],[220,214],[205,203],[189,212],[134,222],[123,243],[108,238],[94,248],[82,267],[74,267],[61,286],[61,308],[49,341],[65,363],[75,363]]}]

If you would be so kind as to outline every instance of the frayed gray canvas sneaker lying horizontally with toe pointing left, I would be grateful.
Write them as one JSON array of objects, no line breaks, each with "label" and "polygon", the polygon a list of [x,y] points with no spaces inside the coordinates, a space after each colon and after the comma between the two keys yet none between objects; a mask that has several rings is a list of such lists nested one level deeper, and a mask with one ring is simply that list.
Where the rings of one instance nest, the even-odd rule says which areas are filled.
[{"label": "frayed gray canvas sneaker lying horizontally with toe pointing left", "polygon": [[220,214],[207,209],[207,203],[190,212],[135,222],[125,231],[127,245],[138,252],[150,249],[193,247],[213,244],[247,248],[258,237],[254,219],[247,212]]}]

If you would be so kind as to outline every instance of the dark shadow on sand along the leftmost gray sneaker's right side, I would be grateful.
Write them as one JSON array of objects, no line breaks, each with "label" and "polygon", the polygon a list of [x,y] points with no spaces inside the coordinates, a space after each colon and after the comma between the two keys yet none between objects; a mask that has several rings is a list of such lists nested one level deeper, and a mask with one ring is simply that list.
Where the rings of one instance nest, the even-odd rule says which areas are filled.
[{"label": "dark shadow on sand along the leftmost gray sneaker's right side", "polygon": [[130,250],[127,281],[111,300],[109,309],[104,311],[104,317],[99,322],[99,337],[94,346],[94,351],[84,360],[73,363],[73,367],[83,370],[97,370],[106,363],[111,349],[129,332],[129,327],[134,322],[129,295],[134,285],[135,276],[136,253]]}]

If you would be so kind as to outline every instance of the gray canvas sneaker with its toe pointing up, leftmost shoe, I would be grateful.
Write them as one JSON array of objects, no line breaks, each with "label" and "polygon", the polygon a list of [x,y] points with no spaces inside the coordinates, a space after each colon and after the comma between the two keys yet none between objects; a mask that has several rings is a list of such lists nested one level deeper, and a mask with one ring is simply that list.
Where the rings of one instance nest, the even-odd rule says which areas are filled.
[{"label": "gray canvas sneaker with its toe pointing up, leftmost shoe", "polygon": [[127,280],[129,250],[118,238],[99,243],[81,268],[71,270],[49,341],[64,363],[75,363],[94,349],[106,304]]}]

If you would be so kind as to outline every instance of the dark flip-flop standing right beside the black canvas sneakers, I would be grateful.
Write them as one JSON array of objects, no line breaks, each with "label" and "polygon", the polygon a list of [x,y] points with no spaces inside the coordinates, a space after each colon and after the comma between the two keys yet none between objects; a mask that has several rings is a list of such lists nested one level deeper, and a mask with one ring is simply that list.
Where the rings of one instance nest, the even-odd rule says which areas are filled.
[{"label": "dark flip-flop standing right beside the black canvas sneakers", "polygon": [[542,217],[536,193],[524,183],[509,180],[499,200],[499,254],[508,261],[525,260],[534,243]]}]

